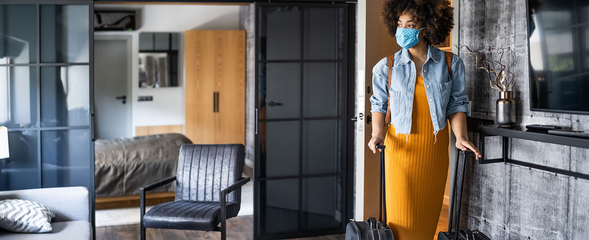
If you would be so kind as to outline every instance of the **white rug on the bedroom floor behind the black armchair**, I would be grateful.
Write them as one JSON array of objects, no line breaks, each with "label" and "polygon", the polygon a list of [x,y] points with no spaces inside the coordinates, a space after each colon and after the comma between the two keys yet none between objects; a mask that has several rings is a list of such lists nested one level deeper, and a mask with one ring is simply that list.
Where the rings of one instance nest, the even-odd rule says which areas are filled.
[{"label": "white rug on the bedroom floor behind the black armchair", "polygon": [[[237,216],[252,215],[254,213],[253,192],[252,181],[241,187],[241,207]],[[152,206],[145,207],[145,212],[151,208]],[[97,228],[101,226],[134,225],[140,222],[140,209],[138,207],[97,210],[95,214]]]}]

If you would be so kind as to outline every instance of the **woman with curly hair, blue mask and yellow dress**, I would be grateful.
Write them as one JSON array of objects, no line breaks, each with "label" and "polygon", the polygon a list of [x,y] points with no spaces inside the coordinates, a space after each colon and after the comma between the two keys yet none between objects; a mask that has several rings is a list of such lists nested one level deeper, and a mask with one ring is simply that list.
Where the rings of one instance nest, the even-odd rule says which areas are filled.
[{"label": "woman with curly hair, blue mask and yellow dress", "polygon": [[[388,150],[386,214],[399,240],[431,240],[435,235],[448,176],[446,121],[456,136],[456,147],[481,157],[466,134],[464,63],[453,54],[448,73],[445,52],[432,47],[444,42],[454,25],[452,9],[446,0],[388,0],[382,9],[388,32],[402,50],[394,56],[390,88],[386,58],[372,70],[368,145],[374,153],[377,144]],[[383,137],[389,94],[391,122]]]}]

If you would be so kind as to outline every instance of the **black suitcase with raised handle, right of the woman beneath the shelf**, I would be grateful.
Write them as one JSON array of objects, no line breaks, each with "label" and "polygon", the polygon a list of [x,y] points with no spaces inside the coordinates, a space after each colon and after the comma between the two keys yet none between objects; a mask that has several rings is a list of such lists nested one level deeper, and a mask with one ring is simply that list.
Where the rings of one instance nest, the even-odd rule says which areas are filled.
[{"label": "black suitcase with raised handle, right of the woman beneath the shelf", "polygon": [[[458,198],[458,211],[456,212],[456,228],[452,229],[452,223],[454,222],[454,202],[457,198],[456,193],[456,178],[458,178],[458,160],[460,159],[459,153],[462,152],[462,180],[460,181],[460,198]],[[448,232],[439,232],[438,240],[491,240],[482,232],[478,230],[471,230],[468,228],[460,228],[460,211],[462,208],[462,188],[464,188],[464,172],[466,170],[466,152],[456,148],[456,167],[454,167],[454,185],[452,185],[452,203],[450,207],[450,216],[448,218]],[[456,234],[458,229],[458,234]]]}]

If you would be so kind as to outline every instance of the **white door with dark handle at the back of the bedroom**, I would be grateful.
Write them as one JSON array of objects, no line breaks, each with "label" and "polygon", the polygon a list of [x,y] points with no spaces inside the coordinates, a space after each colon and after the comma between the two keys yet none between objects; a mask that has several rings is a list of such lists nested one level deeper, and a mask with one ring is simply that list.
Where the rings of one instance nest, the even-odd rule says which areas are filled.
[{"label": "white door with dark handle at the back of the bedroom", "polygon": [[94,40],[94,126],[97,139],[131,136],[127,39]]}]

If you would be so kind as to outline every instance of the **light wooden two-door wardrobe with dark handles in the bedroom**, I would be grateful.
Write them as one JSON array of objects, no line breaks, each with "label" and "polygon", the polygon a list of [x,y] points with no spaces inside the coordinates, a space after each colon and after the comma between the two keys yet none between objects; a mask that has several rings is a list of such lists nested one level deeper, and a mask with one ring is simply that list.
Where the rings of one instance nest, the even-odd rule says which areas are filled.
[{"label": "light wooden two-door wardrobe with dark handles in the bedroom", "polygon": [[245,143],[246,32],[184,35],[184,131],[195,144]]}]

